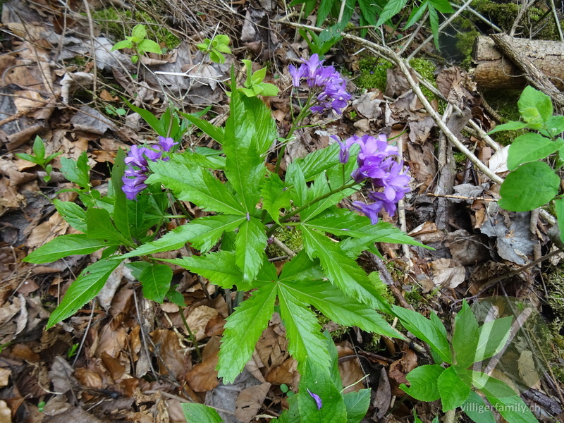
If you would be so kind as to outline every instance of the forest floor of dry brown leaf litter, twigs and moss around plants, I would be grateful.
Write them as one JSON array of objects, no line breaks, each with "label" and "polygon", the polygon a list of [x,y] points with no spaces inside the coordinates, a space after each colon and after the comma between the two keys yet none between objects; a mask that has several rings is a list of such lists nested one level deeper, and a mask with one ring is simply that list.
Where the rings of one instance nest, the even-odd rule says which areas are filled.
[{"label": "forest floor of dry brown leaf litter, twigs and moss around plants", "polygon": [[[314,25],[315,16],[298,20],[300,6],[285,9],[274,0],[61,4],[5,1],[1,16],[0,423],[185,422],[180,404],[187,401],[216,407],[225,422],[269,422],[287,407],[287,388],[297,388],[299,378],[279,319],[271,320],[245,372],[225,386],[215,370],[228,317],[219,288],[173,268],[200,359],[178,306],[145,300],[125,266],[114,271],[93,302],[46,331],[68,286],[99,257],[72,256],[41,265],[22,259],[58,235],[76,233],[52,202],[76,200],[76,193],[67,190],[73,183],[61,173],[61,157],[78,159],[87,152],[92,184],[103,192],[118,149],[156,138],[123,98],[157,115],[170,102],[188,113],[211,105],[206,118],[221,125],[228,111],[222,81],[230,77],[232,66],[240,70],[240,59],[250,59],[257,68],[268,66],[265,81],[280,89],[264,102],[285,135],[291,123],[288,65],[300,63],[309,51],[294,24]],[[166,54],[147,54],[134,64],[131,51],[111,51],[137,23],[149,28],[148,37],[166,47]],[[484,108],[472,77],[456,66],[467,57],[453,48],[454,32],[443,31],[439,52],[425,41],[431,33],[426,25],[418,32],[415,27],[402,32],[401,26],[384,25],[381,32],[370,30],[362,38],[383,45],[384,36],[386,48],[404,58],[420,47],[409,63],[430,85],[424,93],[432,109],[486,169],[505,176],[507,148],[484,136],[499,122]],[[233,55],[221,65],[195,47],[215,34],[231,38]],[[537,374],[537,379],[527,379],[529,389],[522,398],[539,421],[564,421],[564,255],[544,259],[556,251],[548,237],[551,225],[534,212],[499,209],[499,185],[449,144],[405,74],[376,56],[370,45],[345,37],[326,54],[326,63],[348,78],[353,100],[343,118],[321,118],[312,123],[322,123],[322,129],[301,130],[281,168],[326,147],[333,142],[331,135],[395,137],[410,166],[412,192],[398,216],[382,219],[434,250],[382,244],[378,247],[385,262],[366,255],[362,266],[388,281],[392,302],[425,315],[435,312],[449,329],[465,298],[477,305],[494,304],[501,315],[505,298],[532,306],[543,322],[537,329],[544,366],[529,372],[530,351],[515,348],[505,354],[505,367],[497,376],[511,384],[510,374]],[[237,78],[244,80],[243,71]],[[515,92],[501,97],[508,97],[513,104],[507,107],[515,110]],[[43,168],[16,156],[32,153],[37,135],[47,154],[62,153],[51,162],[48,182]],[[217,147],[197,130],[184,141],[185,146]],[[283,242],[300,249],[290,236]],[[274,247],[270,254],[283,255]],[[418,402],[399,388],[408,372],[429,363],[422,345],[322,323],[338,346],[343,386],[349,391],[372,388],[363,421],[412,421],[412,410],[425,423],[442,415],[440,403]]]}]

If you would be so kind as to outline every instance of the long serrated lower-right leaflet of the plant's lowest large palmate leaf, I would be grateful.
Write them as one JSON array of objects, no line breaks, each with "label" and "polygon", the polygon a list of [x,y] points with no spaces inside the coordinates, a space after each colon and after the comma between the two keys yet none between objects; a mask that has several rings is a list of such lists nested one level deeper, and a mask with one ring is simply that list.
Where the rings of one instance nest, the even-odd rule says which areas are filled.
[{"label": "long serrated lower-right leaflet of the plant's lowest large palmate leaf", "polygon": [[326,317],[338,324],[358,326],[367,332],[403,338],[374,309],[343,295],[341,290],[338,290],[329,282],[311,281],[307,284],[285,282],[283,285],[293,293],[295,298],[313,305]]}]

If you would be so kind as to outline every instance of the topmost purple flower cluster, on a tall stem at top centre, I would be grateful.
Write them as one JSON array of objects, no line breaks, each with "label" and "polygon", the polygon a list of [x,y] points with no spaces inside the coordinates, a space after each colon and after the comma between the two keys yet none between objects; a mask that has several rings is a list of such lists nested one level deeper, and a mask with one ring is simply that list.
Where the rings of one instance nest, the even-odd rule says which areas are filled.
[{"label": "topmost purple flower cluster, on a tall stem at top centre", "polygon": [[306,78],[309,88],[319,91],[317,104],[312,106],[311,111],[321,114],[333,110],[340,115],[350,100],[350,94],[346,92],[347,82],[341,73],[335,71],[333,66],[323,66],[324,61],[319,60],[317,53],[312,54],[309,61],[302,61],[299,68],[288,66],[294,87],[299,87],[301,79]]}]

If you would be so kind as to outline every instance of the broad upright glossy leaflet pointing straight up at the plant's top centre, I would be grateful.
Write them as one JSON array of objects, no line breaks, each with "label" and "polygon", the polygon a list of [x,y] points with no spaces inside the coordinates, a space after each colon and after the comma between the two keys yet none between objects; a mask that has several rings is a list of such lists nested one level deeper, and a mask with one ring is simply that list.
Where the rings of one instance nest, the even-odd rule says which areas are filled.
[{"label": "broad upright glossy leaflet pointing straight up at the plant's top centre", "polygon": [[263,154],[275,137],[276,124],[270,109],[261,100],[246,98],[234,90],[225,126],[223,152],[226,154],[225,174],[235,188],[245,213],[254,212],[259,201],[258,187],[266,173]]}]

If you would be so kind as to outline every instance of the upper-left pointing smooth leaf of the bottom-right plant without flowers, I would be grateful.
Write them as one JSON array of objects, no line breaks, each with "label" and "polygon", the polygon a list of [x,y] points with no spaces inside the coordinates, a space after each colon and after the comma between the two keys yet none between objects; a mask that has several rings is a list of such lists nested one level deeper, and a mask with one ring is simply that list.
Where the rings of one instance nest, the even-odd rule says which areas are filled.
[{"label": "upper-left pointing smooth leaf of the bottom-right plant without flowers", "polygon": [[438,327],[434,322],[425,319],[421,314],[410,309],[405,309],[394,305],[393,313],[398,316],[401,324],[413,333],[417,338],[428,343],[441,359],[452,364],[453,360],[450,356],[450,345],[443,333],[443,329]]}]

